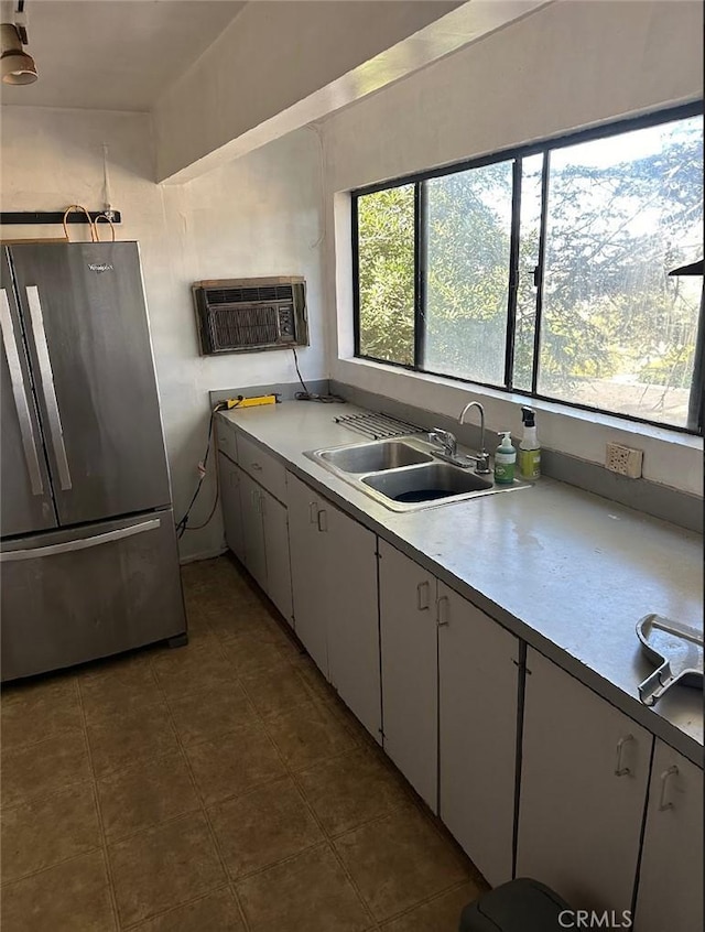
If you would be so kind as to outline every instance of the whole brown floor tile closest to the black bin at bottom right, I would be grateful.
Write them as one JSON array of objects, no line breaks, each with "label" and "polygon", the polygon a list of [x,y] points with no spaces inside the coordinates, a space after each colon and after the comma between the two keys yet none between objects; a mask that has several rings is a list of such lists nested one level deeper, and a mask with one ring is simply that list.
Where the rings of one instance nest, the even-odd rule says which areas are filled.
[{"label": "whole brown floor tile closest to the black bin at bottom right", "polygon": [[379,921],[468,877],[467,861],[412,806],[355,828],[334,845]]}]

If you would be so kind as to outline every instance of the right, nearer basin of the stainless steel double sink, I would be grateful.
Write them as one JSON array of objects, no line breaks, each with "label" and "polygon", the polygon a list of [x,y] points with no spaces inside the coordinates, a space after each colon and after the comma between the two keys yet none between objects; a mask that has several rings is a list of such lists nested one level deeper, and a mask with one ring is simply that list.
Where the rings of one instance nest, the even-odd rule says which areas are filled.
[{"label": "right, nearer basin of the stainless steel double sink", "polygon": [[399,502],[436,501],[469,491],[489,491],[495,486],[489,477],[445,463],[365,476],[362,483]]}]

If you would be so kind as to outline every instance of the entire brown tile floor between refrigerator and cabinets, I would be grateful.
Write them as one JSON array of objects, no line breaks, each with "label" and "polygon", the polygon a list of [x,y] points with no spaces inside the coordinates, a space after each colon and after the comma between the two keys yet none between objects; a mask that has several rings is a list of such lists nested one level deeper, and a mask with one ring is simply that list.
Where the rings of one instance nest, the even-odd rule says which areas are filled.
[{"label": "entire brown tile floor between refrigerator and cabinets", "polygon": [[2,932],[456,932],[484,881],[235,561],[188,647],[2,694]]}]

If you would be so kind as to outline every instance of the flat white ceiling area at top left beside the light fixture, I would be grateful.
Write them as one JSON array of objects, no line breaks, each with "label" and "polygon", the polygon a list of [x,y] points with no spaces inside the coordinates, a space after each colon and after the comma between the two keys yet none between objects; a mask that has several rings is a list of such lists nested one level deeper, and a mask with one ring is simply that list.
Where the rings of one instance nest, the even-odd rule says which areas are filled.
[{"label": "flat white ceiling area at top left beside the light fixture", "polygon": [[235,0],[30,0],[26,47],[39,80],[1,85],[0,99],[151,110],[243,6]]}]

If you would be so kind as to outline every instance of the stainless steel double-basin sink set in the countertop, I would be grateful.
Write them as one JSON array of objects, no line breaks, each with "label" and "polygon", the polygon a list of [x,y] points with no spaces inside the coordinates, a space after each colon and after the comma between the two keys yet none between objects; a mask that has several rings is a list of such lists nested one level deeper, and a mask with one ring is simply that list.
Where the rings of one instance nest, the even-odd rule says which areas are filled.
[{"label": "stainless steel double-basin sink set in the countertop", "polygon": [[314,449],[306,456],[392,511],[417,511],[530,487],[519,480],[498,486],[491,475],[438,462],[434,449],[431,443],[408,436]]}]

